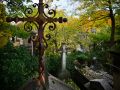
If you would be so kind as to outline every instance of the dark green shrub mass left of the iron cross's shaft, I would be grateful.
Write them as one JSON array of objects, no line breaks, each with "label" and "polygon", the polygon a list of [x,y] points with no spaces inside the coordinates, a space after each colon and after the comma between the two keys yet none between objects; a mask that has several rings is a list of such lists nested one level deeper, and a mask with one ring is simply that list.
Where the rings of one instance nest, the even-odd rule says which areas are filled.
[{"label": "dark green shrub mass left of the iron cross's shaft", "polygon": [[1,90],[17,90],[37,74],[37,59],[25,46],[13,47],[8,43],[0,49]]}]

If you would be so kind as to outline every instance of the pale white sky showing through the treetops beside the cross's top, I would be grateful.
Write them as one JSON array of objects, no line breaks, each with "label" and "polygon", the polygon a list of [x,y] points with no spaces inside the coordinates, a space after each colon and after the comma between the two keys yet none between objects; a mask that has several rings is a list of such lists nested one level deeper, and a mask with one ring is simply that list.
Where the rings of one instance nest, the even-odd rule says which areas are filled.
[{"label": "pale white sky showing through the treetops beside the cross's top", "polygon": [[[39,0],[32,0],[34,3],[38,3]],[[78,7],[79,3],[74,2],[72,0],[53,0],[52,4],[53,7],[57,6],[57,10],[61,9],[64,10],[67,15],[72,15],[76,13],[76,8]]]}]

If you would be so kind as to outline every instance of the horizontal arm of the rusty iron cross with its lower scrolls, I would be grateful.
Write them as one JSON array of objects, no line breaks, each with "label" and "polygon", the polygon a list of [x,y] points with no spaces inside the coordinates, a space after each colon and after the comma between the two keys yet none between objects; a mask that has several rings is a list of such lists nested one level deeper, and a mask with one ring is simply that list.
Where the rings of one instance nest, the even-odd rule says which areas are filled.
[{"label": "horizontal arm of the rusty iron cross with its lower scrolls", "polygon": [[[54,30],[56,28],[56,25],[54,22],[59,22],[59,23],[63,23],[63,22],[67,22],[67,19],[66,18],[62,18],[62,17],[59,17],[59,18],[52,18],[52,17],[27,17],[27,18],[19,18],[19,17],[7,17],[6,18],[6,21],[7,22],[12,22],[14,21],[15,23],[19,22],[19,21],[23,21],[23,22],[26,22],[24,24],[24,29],[28,32],[32,31],[32,26],[30,25],[31,23],[33,23],[37,28],[39,27],[44,27],[48,24],[48,23],[53,23],[53,26],[49,26],[51,27],[52,30]],[[35,23],[37,22],[37,23]],[[43,26],[44,25],[44,26]],[[27,27],[27,28],[26,28]],[[51,30],[50,29],[50,30]]]}]

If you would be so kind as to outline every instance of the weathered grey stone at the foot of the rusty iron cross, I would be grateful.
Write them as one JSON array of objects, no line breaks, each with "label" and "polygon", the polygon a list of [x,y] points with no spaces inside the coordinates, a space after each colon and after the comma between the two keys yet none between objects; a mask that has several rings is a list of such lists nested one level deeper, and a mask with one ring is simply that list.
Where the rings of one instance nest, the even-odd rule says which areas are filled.
[{"label": "weathered grey stone at the foot of the rusty iron cross", "polygon": [[[67,86],[61,80],[55,78],[54,76],[49,76],[49,87],[46,90],[73,90],[71,87]],[[19,90],[44,90],[43,86],[40,84],[38,79],[31,79]]]}]

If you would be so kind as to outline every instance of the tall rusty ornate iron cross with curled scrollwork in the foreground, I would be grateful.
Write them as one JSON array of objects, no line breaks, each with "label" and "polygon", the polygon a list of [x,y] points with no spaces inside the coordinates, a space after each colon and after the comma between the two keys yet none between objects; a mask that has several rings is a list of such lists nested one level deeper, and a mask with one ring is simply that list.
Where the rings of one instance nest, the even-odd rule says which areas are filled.
[{"label": "tall rusty ornate iron cross with curled scrollwork in the foreground", "polygon": [[[44,28],[45,26],[50,23],[49,25],[49,30],[54,30],[56,28],[55,22],[67,22],[66,18],[55,18],[56,11],[53,9],[49,9],[48,4],[44,4],[43,0],[39,0],[39,3],[33,4],[33,7],[38,7],[38,12],[34,16],[30,16],[33,13],[32,8],[26,8],[25,10],[25,18],[19,18],[19,17],[7,17],[6,21],[7,22],[19,22],[23,21],[26,22],[24,24],[24,29],[26,31],[31,31],[32,30],[32,25],[34,24],[37,29],[38,29],[38,41],[39,41],[39,80],[41,80],[42,75],[44,73],[44,65],[43,65],[43,55],[44,55],[44,50],[45,50],[45,38],[44,38]],[[45,13],[44,9],[48,9],[48,14]],[[46,35],[46,37],[49,39],[50,35]],[[47,46],[47,44],[46,44]]]}]

